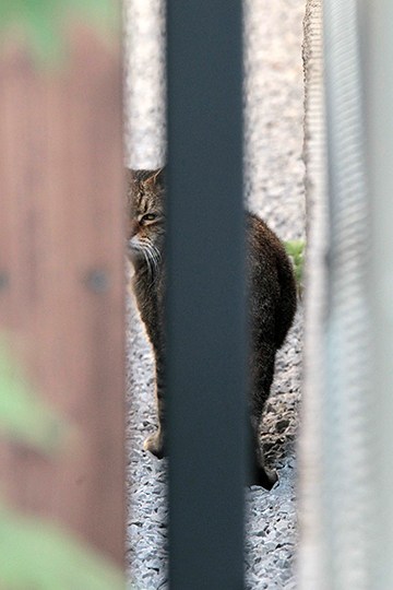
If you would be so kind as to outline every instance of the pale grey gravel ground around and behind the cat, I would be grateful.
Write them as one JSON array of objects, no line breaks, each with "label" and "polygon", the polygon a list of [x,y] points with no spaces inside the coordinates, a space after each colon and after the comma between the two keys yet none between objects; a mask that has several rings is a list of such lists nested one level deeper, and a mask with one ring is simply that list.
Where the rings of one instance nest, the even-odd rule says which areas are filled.
[{"label": "pale grey gravel ground around and behind the cat", "polygon": [[[156,167],[165,153],[162,0],[127,0],[126,154],[133,167]],[[250,209],[283,239],[303,237],[305,0],[246,1],[246,178]],[[263,444],[278,470],[272,492],[247,496],[247,588],[294,589],[295,437],[301,385],[302,310],[278,353]],[[155,428],[152,352],[133,302],[128,326],[128,565],[138,590],[167,588],[166,462],[142,450]],[[186,590],[186,589],[184,589]],[[213,590],[213,589],[212,589]]]}]

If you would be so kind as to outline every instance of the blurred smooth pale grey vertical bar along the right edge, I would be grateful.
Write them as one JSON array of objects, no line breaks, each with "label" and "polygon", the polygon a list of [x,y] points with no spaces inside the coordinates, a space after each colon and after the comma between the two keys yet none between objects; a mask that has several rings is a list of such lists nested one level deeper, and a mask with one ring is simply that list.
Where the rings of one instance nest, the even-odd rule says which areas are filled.
[{"label": "blurred smooth pale grey vertical bar along the right edge", "polygon": [[373,404],[370,447],[373,477],[373,590],[393,588],[393,4],[361,0],[361,49],[365,66],[368,173],[371,204],[369,296],[373,339]]}]

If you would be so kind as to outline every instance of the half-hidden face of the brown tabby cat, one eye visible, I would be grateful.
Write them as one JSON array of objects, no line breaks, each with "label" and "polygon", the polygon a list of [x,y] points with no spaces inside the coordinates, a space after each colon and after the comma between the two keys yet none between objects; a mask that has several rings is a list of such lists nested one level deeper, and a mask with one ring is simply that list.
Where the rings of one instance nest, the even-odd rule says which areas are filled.
[{"label": "half-hidden face of the brown tabby cat, one eye visible", "polygon": [[128,170],[128,256],[157,270],[164,248],[164,168]]}]

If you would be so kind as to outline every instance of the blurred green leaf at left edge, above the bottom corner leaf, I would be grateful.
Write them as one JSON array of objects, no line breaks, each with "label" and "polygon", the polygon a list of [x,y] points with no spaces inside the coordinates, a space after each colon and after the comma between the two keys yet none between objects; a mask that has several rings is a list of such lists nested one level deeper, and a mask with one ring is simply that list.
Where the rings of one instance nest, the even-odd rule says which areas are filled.
[{"label": "blurred green leaf at left edge, above the bottom corner leaf", "polygon": [[32,392],[4,343],[0,343],[0,435],[52,453],[67,433],[64,421]]}]

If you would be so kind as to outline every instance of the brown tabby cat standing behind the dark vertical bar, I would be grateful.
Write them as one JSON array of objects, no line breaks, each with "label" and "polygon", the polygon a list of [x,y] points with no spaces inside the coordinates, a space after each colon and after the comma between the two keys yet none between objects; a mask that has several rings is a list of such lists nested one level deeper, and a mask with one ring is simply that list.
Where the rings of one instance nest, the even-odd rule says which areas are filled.
[{"label": "brown tabby cat standing behind the dark vertical bar", "polygon": [[[133,290],[156,363],[158,429],[144,449],[164,456],[165,375],[163,297],[165,281],[165,169],[128,170],[128,257],[134,267]],[[252,483],[271,489],[277,481],[264,465],[259,440],[263,408],[273,381],[276,351],[282,346],[296,311],[291,263],[277,236],[252,213],[246,214],[249,329],[251,345],[250,421],[253,445]]]}]

